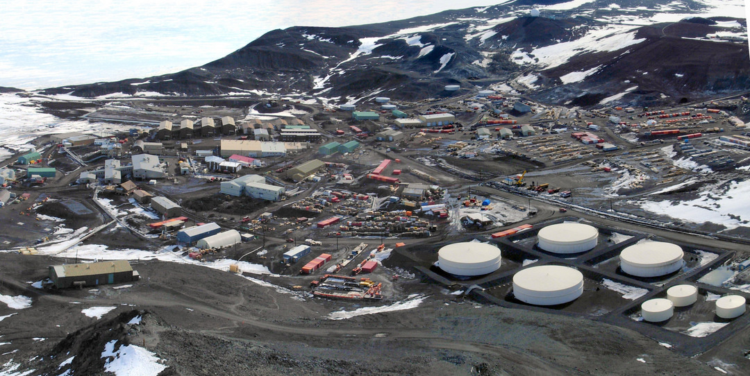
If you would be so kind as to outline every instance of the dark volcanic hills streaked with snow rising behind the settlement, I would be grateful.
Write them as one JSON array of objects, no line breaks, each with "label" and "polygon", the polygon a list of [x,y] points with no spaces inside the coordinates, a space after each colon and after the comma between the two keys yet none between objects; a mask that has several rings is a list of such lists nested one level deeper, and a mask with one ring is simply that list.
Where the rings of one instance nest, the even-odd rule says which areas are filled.
[{"label": "dark volcanic hills streaked with snow rising behind the settlement", "polygon": [[[750,87],[745,19],[700,17],[708,2],[683,2],[596,0],[566,9],[565,1],[517,0],[373,25],[298,26],[269,31],[202,67],[43,92],[301,94],[345,103],[508,83],[543,102],[589,106],[619,93],[620,102],[652,103]],[[529,16],[539,4],[555,5]],[[664,13],[695,17],[651,20]]]}]

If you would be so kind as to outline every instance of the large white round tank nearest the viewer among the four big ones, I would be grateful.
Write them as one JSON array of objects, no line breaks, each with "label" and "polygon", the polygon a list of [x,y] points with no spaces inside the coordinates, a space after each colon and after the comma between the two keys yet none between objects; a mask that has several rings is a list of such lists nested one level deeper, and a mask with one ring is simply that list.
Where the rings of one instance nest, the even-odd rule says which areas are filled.
[{"label": "large white round tank nearest the viewer among the four big ones", "polygon": [[583,274],[559,265],[529,267],[513,276],[513,294],[535,306],[568,303],[583,294]]}]

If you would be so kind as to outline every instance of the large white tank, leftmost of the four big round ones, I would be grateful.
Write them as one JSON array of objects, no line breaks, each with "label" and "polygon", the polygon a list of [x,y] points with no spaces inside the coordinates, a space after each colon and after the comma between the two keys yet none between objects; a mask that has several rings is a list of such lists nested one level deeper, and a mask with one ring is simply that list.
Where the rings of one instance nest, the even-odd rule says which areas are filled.
[{"label": "large white tank, leftmost of the four big round ones", "polygon": [[481,276],[500,267],[500,249],[492,244],[453,243],[437,252],[440,269],[455,276]]}]

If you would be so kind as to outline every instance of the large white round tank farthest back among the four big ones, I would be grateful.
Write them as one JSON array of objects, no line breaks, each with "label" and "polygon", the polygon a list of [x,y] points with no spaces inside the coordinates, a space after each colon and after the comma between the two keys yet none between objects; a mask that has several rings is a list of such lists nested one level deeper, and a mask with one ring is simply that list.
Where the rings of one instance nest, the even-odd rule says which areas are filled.
[{"label": "large white round tank farthest back among the four big ones", "polygon": [[558,223],[542,228],[537,237],[539,248],[547,252],[579,253],[596,246],[599,231],[583,223]]}]

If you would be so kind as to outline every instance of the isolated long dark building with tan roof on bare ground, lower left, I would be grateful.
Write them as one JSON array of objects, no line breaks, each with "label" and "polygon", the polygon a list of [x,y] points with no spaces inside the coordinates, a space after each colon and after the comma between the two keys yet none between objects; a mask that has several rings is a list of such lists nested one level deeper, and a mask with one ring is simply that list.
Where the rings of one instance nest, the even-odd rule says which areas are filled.
[{"label": "isolated long dark building with tan roof on bare ground, lower left", "polygon": [[136,282],[139,274],[127,260],[87,264],[51,265],[49,279],[56,288],[83,288],[96,285]]}]

